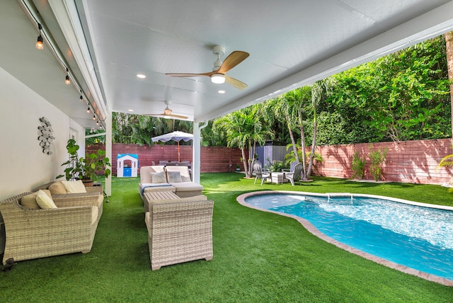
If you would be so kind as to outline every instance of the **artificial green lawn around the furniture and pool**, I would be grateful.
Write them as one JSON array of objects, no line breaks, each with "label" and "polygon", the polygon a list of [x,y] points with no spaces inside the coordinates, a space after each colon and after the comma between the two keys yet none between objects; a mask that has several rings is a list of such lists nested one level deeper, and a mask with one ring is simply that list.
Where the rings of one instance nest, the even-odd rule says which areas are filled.
[{"label": "artificial green lawn around the furniture and pool", "polygon": [[113,178],[90,253],[18,262],[0,272],[0,302],[452,302],[446,287],[343,251],[296,220],[243,207],[251,190],[368,193],[453,206],[439,185],[335,178],[261,186],[240,173],[204,173],[214,200],[212,261],[152,271],[138,178]]}]

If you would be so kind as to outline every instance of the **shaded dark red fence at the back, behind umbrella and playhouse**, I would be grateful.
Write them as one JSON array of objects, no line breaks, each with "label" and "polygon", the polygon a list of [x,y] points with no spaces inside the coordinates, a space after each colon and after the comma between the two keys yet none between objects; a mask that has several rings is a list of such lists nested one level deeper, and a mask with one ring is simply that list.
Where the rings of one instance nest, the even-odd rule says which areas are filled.
[{"label": "shaded dark red fence at the back, behind umbrella and playhouse", "polygon": [[[103,144],[93,144],[86,146],[86,153],[105,149]],[[192,163],[192,146],[180,145],[180,161],[190,161]],[[234,171],[236,164],[242,167],[241,149],[232,149],[229,147],[202,147],[201,148],[201,167],[202,173],[222,173],[230,170]],[[151,165],[154,161],[156,165],[159,160],[178,161],[178,146],[168,144],[154,144],[152,147],[148,145],[139,146],[137,144],[112,144],[112,164],[113,175],[116,175],[117,154],[137,154],[139,156],[139,166]]]}]

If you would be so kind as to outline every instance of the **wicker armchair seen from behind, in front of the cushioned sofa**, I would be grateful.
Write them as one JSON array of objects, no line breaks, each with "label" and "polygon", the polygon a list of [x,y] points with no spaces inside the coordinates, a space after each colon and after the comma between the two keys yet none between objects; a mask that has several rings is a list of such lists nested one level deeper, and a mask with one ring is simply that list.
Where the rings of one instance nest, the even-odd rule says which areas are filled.
[{"label": "wicker armchair seen from behind, in front of the cushioned sofa", "polygon": [[151,269],[212,260],[212,200],[161,200],[145,215]]}]

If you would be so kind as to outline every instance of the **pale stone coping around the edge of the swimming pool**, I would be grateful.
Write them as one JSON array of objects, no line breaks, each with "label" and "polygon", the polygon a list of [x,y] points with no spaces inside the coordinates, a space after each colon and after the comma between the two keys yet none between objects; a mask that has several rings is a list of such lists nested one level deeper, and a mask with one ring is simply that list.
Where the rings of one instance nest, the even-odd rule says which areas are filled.
[{"label": "pale stone coping around the edge of the swimming pool", "polygon": [[333,244],[333,245],[337,246],[338,248],[342,248],[345,251],[348,251],[350,253],[354,253],[355,255],[361,256],[362,258],[366,258],[369,261],[373,261],[375,263],[379,263],[379,264],[384,265],[384,266],[386,266],[388,268],[393,268],[395,270],[399,270],[399,271],[401,271],[403,273],[408,273],[409,275],[415,275],[415,276],[417,276],[419,278],[422,278],[422,279],[425,279],[425,280],[428,280],[428,281],[431,281],[431,282],[437,282],[437,283],[440,283],[440,284],[445,285],[445,286],[453,286],[453,280],[442,278],[442,277],[439,277],[437,275],[432,275],[430,273],[425,273],[425,272],[420,271],[420,270],[415,270],[413,268],[409,268],[409,267],[407,267],[405,265],[400,265],[398,263],[394,263],[394,262],[385,260],[384,258],[379,258],[377,256],[373,256],[370,253],[365,253],[365,251],[360,251],[357,248],[353,248],[351,246],[348,246],[346,244],[341,243],[340,241],[332,239],[330,236],[326,236],[326,234],[323,234],[321,231],[319,231],[319,229],[316,229],[316,227],[314,227],[314,225],[311,224],[306,219],[302,219],[302,218],[294,216],[294,215],[284,214],[282,212],[275,212],[273,210],[266,210],[264,208],[260,208],[260,207],[256,207],[256,206],[250,205],[250,204],[248,204],[246,202],[246,198],[249,198],[249,197],[251,197],[253,195],[268,195],[268,194],[275,194],[275,193],[277,193],[277,194],[278,193],[287,193],[287,194],[297,194],[297,195],[319,195],[319,196],[323,196],[323,197],[326,197],[326,196],[345,196],[345,195],[347,195],[347,196],[349,195],[350,196],[350,195],[354,195],[354,196],[360,196],[360,197],[383,198],[383,199],[391,200],[391,201],[395,201],[395,202],[401,202],[401,203],[410,204],[410,205],[416,205],[416,206],[421,206],[421,207],[437,208],[437,209],[442,209],[442,210],[453,210],[453,207],[443,206],[443,205],[430,205],[430,204],[426,204],[426,203],[413,202],[413,201],[403,200],[403,199],[398,199],[398,198],[384,197],[384,196],[381,196],[381,195],[363,195],[363,194],[350,194],[350,193],[324,193],[324,194],[321,194],[321,193],[309,193],[309,192],[291,191],[291,190],[261,190],[261,191],[251,192],[251,193],[244,193],[242,195],[239,195],[236,198],[236,200],[239,202],[239,204],[241,204],[243,206],[246,206],[246,207],[249,207],[249,208],[252,208],[252,209],[255,209],[255,210],[260,210],[260,211],[263,211],[263,212],[271,212],[271,213],[274,213],[274,214],[277,214],[277,215],[282,215],[282,216],[285,216],[285,217],[290,217],[292,219],[295,219],[295,220],[297,220],[297,222],[302,224],[302,226],[306,230],[311,232],[311,234],[314,234],[314,236],[317,236],[320,239],[322,239],[323,241],[326,241],[326,242],[328,242],[330,244]]}]

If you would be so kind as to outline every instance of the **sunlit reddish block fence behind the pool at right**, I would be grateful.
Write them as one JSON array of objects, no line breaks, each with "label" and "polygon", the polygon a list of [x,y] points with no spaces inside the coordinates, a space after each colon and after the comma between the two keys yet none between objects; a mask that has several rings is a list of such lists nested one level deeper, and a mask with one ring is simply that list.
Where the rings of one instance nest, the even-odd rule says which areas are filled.
[{"label": "sunlit reddish block fence behind the pool at right", "polygon": [[373,180],[369,154],[377,150],[387,151],[382,165],[383,181],[440,184],[452,177],[452,169],[436,170],[440,160],[453,153],[451,139],[321,146],[316,151],[323,156],[323,162],[316,163],[314,172],[319,176],[351,178],[352,157],[357,151],[365,159],[364,179]]}]

